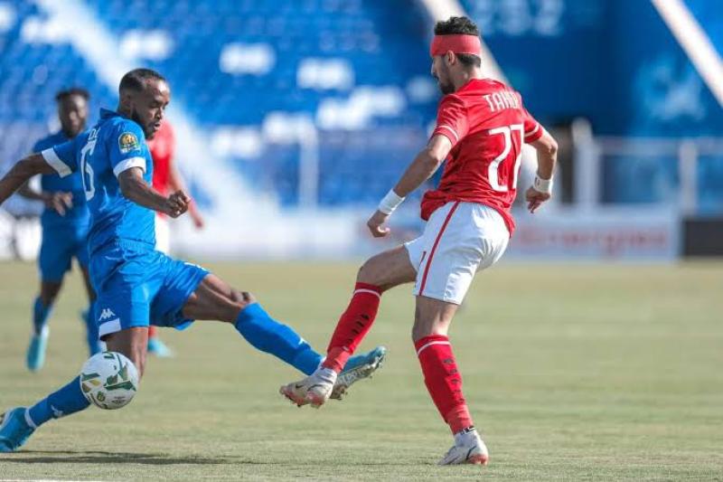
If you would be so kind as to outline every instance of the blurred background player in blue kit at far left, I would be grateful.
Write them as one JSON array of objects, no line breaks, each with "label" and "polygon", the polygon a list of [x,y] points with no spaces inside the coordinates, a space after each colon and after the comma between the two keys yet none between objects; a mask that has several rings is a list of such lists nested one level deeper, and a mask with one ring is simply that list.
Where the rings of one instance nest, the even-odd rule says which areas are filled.
[{"label": "blurred background player in blue kit at far left", "polygon": [[[89,97],[87,90],[78,88],[58,92],[55,100],[58,103],[61,129],[36,142],[33,152],[40,153],[44,149],[77,137],[86,127]],[[83,319],[87,326],[89,352],[95,354],[100,349],[98,329],[95,320],[92,319],[95,293],[90,285],[88,273],[87,238],[90,215],[80,173],[65,177],[57,173],[41,175],[40,192],[35,191],[29,184],[24,184],[18,193],[45,204],[41,215],[42,245],[38,258],[41,276],[40,294],[33,303],[33,334],[26,356],[27,367],[34,372],[40,370],[45,362],[49,334],[48,318],[73,258],[78,260],[88,291],[89,307],[83,312]]]}]

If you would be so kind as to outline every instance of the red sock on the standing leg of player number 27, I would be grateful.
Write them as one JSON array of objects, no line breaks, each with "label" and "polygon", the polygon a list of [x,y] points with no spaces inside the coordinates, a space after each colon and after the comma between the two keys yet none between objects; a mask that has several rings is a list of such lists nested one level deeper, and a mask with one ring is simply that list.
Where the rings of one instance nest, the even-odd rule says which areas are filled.
[{"label": "red sock on the standing leg of player number 27", "polygon": [[457,371],[449,338],[444,335],[425,336],[414,346],[427,390],[452,433],[472,427],[474,423],[462,394],[462,375]]}]

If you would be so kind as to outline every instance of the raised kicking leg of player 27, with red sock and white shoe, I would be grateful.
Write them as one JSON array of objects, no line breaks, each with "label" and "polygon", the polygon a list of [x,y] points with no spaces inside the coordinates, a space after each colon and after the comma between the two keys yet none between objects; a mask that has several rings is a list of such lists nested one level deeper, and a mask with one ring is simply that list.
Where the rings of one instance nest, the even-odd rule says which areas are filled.
[{"label": "raised kicking leg of player 27, with red sock and white shoe", "polygon": [[[399,246],[367,260],[359,269],[352,300],[336,325],[326,359],[310,376],[286,383],[279,392],[299,407],[308,403],[320,407],[335,395],[343,380],[350,356],[371,329],[379,310],[381,294],[389,288],[413,281],[416,271],[407,249]],[[341,374],[340,374],[341,373]]]}]

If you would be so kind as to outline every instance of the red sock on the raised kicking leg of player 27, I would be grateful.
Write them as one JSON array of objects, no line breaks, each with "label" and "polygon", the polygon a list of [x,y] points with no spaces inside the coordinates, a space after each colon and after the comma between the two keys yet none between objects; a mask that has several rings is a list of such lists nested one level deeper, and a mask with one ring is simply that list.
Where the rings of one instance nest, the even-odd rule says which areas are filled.
[{"label": "red sock on the raised kicking leg of player 27", "polygon": [[332,341],[326,348],[326,360],[322,364],[325,368],[331,368],[336,373],[343,370],[346,361],[362,343],[363,337],[374,323],[380,299],[380,287],[366,283],[356,284],[349,307],[339,318]]}]

